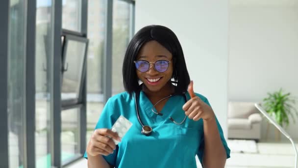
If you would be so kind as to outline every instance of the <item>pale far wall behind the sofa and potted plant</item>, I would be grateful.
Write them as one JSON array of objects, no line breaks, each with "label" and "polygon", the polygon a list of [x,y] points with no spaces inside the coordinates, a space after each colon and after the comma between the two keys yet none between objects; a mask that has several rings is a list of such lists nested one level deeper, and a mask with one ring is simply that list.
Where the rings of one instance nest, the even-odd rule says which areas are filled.
[{"label": "pale far wall behind the sofa and potted plant", "polygon": [[[283,4],[261,1],[231,1],[229,100],[260,102],[267,92],[280,87],[298,98],[298,8],[293,0]],[[263,138],[266,126],[263,123]],[[297,129],[291,123],[287,130],[298,138]],[[269,137],[273,139],[273,129]]]}]

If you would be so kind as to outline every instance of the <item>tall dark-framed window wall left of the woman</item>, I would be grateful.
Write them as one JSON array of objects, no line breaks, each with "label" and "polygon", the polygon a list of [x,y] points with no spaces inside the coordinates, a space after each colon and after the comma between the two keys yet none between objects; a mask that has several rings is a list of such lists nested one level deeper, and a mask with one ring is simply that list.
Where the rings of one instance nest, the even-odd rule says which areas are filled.
[{"label": "tall dark-framed window wall left of the woman", "polygon": [[2,130],[7,131],[3,159],[8,168],[61,167],[81,158],[104,101],[111,91],[124,91],[122,64],[134,2],[54,2],[1,3],[8,6],[2,8],[8,24],[1,29],[7,94],[0,96],[7,100]]}]

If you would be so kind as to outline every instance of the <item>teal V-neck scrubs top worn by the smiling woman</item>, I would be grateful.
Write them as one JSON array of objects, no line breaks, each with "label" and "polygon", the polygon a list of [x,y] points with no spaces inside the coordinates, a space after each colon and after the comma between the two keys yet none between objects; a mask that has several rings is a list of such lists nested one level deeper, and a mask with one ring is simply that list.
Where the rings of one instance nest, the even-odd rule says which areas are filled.
[{"label": "teal V-neck scrubs top worn by the smiling woman", "polygon": [[[186,95],[189,100],[189,94]],[[198,93],[196,95],[210,106],[204,96]],[[133,124],[116,146],[114,153],[103,156],[108,164],[116,168],[197,168],[196,155],[202,164],[203,120],[194,121],[187,117],[183,124],[177,125],[169,119],[170,116],[176,122],[184,119],[185,112],[182,110],[185,104],[184,95],[175,95],[168,99],[161,111],[163,115],[151,111],[153,105],[143,91],[137,103],[143,124],[153,129],[148,137],[141,133],[142,126],[137,118],[134,98],[127,92],[111,97],[101,112],[95,129],[111,129],[120,115]],[[156,109],[154,110],[156,112]],[[217,119],[216,121],[226,156],[229,158],[230,149],[224,139],[223,130]],[[87,153],[84,157],[87,159]]]}]

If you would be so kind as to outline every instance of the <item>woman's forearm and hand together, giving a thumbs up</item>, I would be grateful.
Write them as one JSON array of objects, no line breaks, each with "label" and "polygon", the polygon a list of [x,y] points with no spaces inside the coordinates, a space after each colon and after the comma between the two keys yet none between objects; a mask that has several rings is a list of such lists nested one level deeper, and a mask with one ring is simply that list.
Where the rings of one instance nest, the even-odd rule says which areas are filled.
[{"label": "woman's forearm and hand together, giving a thumbs up", "polygon": [[188,85],[188,92],[191,99],[187,101],[182,109],[189,119],[198,121],[203,119],[204,124],[204,168],[224,168],[226,160],[226,151],[221,140],[220,132],[217,126],[217,119],[208,100],[204,101],[194,92],[193,81]]}]

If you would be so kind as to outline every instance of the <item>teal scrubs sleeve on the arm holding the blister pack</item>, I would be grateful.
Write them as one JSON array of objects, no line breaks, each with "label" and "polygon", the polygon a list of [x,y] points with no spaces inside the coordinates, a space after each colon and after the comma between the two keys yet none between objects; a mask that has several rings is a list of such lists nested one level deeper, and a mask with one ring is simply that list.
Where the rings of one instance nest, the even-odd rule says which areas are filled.
[{"label": "teal scrubs sleeve on the arm holding the blister pack", "polygon": [[[114,114],[113,102],[111,101],[111,99],[109,99],[100,114],[99,121],[95,127],[95,130],[99,129],[99,128],[111,129],[113,124],[116,121],[115,117],[113,117],[113,114]],[[106,162],[109,165],[115,166],[116,159],[117,159],[117,153],[118,153],[118,146],[116,146],[114,153],[112,153],[108,156],[102,156],[102,157],[106,160]],[[88,159],[87,152],[85,152],[84,158]]]}]

